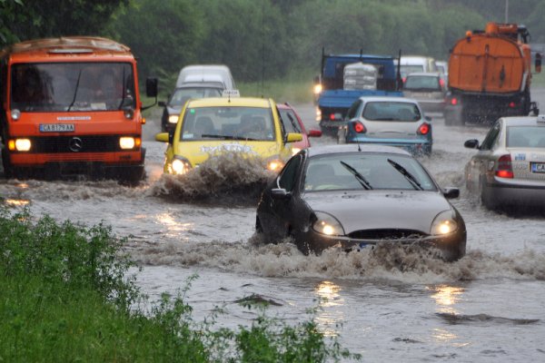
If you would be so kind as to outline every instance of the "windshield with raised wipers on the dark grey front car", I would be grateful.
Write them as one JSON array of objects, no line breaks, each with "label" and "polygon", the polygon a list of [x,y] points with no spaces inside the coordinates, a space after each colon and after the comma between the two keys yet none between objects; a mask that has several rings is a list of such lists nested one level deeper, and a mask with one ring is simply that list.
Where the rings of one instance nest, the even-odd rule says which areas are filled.
[{"label": "windshield with raised wipers on the dark grey front car", "polygon": [[411,156],[354,152],[320,155],[308,162],[304,191],[420,190],[394,165],[410,173],[423,191],[437,191],[428,173]]}]

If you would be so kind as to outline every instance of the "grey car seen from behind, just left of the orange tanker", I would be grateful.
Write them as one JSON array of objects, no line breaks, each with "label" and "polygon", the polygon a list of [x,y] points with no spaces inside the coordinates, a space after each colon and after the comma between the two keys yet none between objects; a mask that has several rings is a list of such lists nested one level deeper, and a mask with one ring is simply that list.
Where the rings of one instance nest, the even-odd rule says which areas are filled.
[{"label": "grey car seen from behind, just left of the orange tanker", "polygon": [[421,105],[425,113],[443,113],[447,88],[439,73],[407,74],[403,95]]}]

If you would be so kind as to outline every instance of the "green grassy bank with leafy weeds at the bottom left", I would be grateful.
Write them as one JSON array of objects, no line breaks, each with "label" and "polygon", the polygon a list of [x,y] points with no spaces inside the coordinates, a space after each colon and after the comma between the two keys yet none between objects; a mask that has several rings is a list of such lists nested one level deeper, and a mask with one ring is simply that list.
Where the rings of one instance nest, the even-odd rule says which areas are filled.
[{"label": "green grassy bank with leafy weeds at the bottom left", "polygon": [[324,338],[312,316],[219,329],[194,322],[183,295],[144,313],[127,279],[126,240],[104,225],[0,212],[0,362],[321,362],[358,358]]}]

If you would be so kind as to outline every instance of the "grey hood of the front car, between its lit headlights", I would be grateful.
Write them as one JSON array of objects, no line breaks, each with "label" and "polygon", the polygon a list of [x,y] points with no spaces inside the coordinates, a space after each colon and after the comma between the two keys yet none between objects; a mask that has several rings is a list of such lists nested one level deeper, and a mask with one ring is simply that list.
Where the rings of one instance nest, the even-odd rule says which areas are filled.
[{"label": "grey hood of the front car, between its lit headlights", "polygon": [[313,211],[332,214],[344,231],[409,229],[430,233],[451,204],[439,191],[314,191],[303,195]]}]

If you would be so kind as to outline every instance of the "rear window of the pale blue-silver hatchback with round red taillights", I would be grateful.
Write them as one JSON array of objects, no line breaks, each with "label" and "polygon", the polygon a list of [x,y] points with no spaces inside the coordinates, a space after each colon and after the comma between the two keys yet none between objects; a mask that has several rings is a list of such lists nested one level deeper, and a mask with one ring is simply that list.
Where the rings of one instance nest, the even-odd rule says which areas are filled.
[{"label": "rear window of the pale blue-silver hatchback with round red taillights", "polygon": [[421,113],[416,103],[385,101],[365,103],[362,116],[369,121],[414,122],[421,119]]}]

